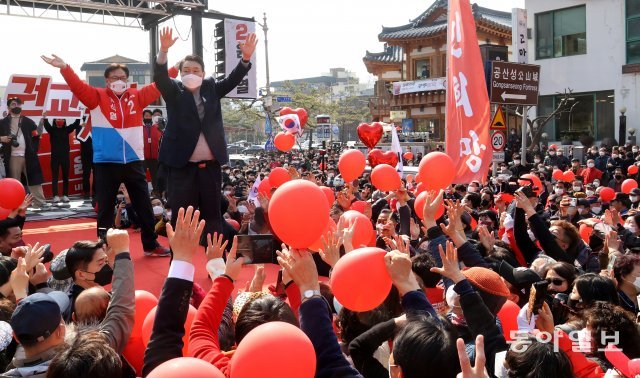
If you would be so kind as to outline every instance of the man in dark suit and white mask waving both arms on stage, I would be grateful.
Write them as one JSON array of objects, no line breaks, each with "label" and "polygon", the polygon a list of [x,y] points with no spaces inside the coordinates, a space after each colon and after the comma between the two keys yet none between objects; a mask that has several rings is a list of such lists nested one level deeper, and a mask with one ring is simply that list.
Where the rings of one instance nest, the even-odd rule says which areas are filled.
[{"label": "man in dark suit and white mask waving both arms on stage", "polygon": [[[242,60],[219,81],[204,78],[204,61],[196,55],[188,55],[180,63],[182,81],[169,78],[167,52],[176,39],[170,28],[162,30],[154,69],[153,80],[167,103],[167,127],[158,160],[166,168],[171,208],[198,208],[206,220],[204,235],[213,235],[222,232],[220,167],[229,160],[220,99],[238,86],[251,69],[249,59],[257,39],[254,33],[248,35],[239,48]],[[176,216],[174,213],[172,224]],[[206,245],[205,239],[202,245]]]}]

